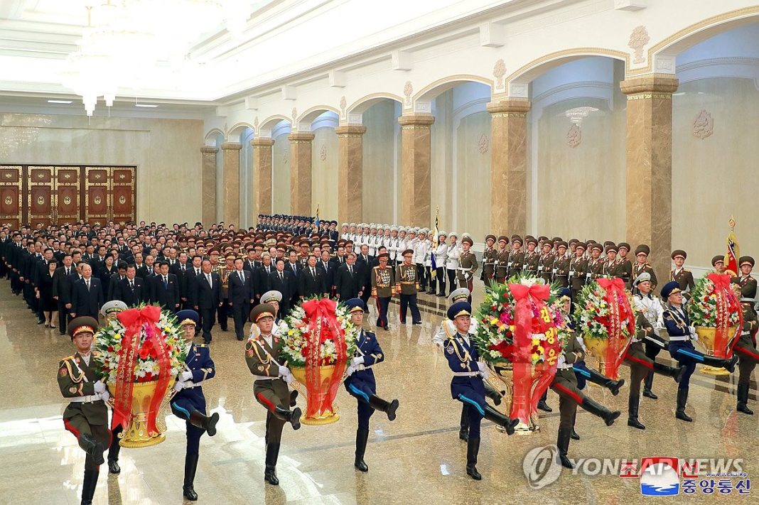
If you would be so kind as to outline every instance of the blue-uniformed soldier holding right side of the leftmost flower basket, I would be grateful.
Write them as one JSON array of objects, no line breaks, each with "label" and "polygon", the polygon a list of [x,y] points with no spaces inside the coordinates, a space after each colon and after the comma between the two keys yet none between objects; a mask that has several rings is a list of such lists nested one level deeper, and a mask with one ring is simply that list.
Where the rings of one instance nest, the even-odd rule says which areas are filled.
[{"label": "blue-uniformed soldier holding right side of the leftmost flower basket", "polygon": [[184,338],[190,345],[187,350],[187,358],[184,359],[184,372],[181,372],[174,386],[175,394],[172,398],[172,413],[179,419],[184,419],[187,424],[187,453],[184,456],[184,485],[182,494],[187,500],[197,500],[197,493],[193,487],[197,458],[200,453],[200,436],[208,432],[209,437],[216,434],[216,423],[219,422],[219,414],[213,412],[206,416],[206,397],[203,396],[203,382],[216,375],[216,366],[211,359],[207,344],[195,344],[195,327],[200,321],[200,315],[194,310],[181,310],[177,312],[177,320]]}]

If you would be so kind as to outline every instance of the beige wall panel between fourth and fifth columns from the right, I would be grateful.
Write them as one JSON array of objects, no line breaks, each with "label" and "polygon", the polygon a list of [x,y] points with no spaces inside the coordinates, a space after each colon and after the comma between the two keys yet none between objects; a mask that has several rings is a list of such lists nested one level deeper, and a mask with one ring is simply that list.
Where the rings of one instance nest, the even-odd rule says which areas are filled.
[{"label": "beige wall panel between fourth and fifth columns from the right", "polygon": [[338,138],[335,129],[313,130],[311,143],[311,215],[319,205],[319,217],[337,219],[338,215]]}]

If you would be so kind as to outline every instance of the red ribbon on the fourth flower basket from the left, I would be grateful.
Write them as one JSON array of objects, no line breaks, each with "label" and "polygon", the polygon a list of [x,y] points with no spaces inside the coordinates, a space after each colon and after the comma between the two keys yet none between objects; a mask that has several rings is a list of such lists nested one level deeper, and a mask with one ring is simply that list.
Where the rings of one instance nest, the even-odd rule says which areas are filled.
[{"label": "red ribbon on the fourth flower basket from the left", "polygon": [[622,328],[627,328],[628,334],[635,334],[635,317],[630,302],[625,293],[625,282],[620,278],[600,278],[598,285],[606,291],[603,297],[609,307],[608,325],[609,340],[606,345],[606,377],[619,378],[619,365],[627,352],[631,339],[622,340]]}]

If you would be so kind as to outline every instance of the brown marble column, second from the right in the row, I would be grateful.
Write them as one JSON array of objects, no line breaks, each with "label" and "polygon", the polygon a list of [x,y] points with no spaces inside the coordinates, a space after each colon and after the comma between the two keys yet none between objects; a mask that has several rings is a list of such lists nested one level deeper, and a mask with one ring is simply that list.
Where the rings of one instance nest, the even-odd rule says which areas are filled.
[{"label": "brown marble column, second from the right in the row", "polygon": [[518,234],[524,237],[527,232],[527,113],[530,108],[530,101],[524,98],[487,104],[492,137],[490,229],[496,236]]}]

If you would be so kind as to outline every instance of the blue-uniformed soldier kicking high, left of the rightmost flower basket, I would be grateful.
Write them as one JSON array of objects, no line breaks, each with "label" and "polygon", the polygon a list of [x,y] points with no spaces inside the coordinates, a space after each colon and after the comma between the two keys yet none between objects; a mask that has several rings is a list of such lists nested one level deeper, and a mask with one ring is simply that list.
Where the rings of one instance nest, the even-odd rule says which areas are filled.
[{"label": "blue-uniformed soldier kicking high, left of the rightmost flower basket", "polygon": [[735,363],[738,362],[738,356],[732,356],[732,359],[723,359],[705,356],[695,350],[691,340],[698,340],[698,335],[696,328],[691,326],[688,312],[685,312],[685,307],[682,306],[682,291],[678,281],[669,281],[664,284],[662,300],[664,299],[667,300],[663,320],[669,334],[669,356],[676,359],[680,366],[685,365],[686,367],[677,388],[675,417],[682,421],[691,422],[693,419],[685,413],[685,405],[688,403],[688,387],[690,386],[691,375],[696,369],[696,363],[703,363],[732,372],[735,369]]}]

